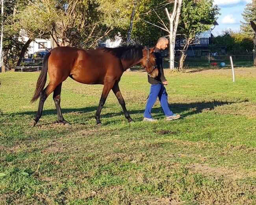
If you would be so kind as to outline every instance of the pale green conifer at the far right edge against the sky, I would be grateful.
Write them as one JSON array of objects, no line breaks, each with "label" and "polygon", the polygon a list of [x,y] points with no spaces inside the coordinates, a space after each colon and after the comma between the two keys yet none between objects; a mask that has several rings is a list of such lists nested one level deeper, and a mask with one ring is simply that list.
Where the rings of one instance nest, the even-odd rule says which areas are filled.
[{"label": "pale green conifer at the far right edge against the sky", "polygon": [[252,0],[252,3],[246,4],[242,13],[244,22],[241,22],[240,29],[248,36],[254,36],[254,31],[250,25],[250,21],[256,21],[256,0]]}]

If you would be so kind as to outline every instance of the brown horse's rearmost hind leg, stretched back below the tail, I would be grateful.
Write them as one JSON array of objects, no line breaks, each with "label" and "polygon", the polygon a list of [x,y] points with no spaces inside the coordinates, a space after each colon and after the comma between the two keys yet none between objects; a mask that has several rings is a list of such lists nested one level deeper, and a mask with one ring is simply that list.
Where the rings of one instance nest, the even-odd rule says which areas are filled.
[{"label": "brown horse's rearmost hind leg, stretched back below the tail", "polygon": [[49,83],[49,84],[46,86],[46,88],[43,89],[43,91],[40,93],[40,99],[39,99],[38,110],[37,110],[37,114],[35,115],[35,119],[32,120],[32,126],[35,126],[35,124],[36,124],[36,123],[39,121],[39,119],[41,118],[45,100],[46,100],[46,98],[49,96],[49,94],[51,94],[52,91],[54,91],[54,89],[55,89],[55,86]]}]

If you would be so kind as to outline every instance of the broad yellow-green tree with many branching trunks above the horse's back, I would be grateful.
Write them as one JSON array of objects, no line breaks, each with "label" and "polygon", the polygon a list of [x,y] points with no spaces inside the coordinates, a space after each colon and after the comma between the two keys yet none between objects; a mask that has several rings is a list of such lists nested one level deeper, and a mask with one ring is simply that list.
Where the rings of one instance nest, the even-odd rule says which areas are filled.
[{"label": "broad yellow-green tree with many branching trunks above the horse's back", "polygon": [[50,36],[52,47],[95,47],[99,39],[113,30],[100,10],[100,3],[99,0],[34,0],[20,13],[19,22],[24,35],[32,39]]}]

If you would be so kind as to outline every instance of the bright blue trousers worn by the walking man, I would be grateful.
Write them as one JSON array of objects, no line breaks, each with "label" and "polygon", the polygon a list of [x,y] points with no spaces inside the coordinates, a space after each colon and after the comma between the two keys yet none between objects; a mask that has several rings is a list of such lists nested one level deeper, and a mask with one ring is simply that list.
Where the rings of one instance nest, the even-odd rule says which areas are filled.
[{"label": "bright blue trousers worn by the walking man", "polygon": [[170,111],[168,106],[167,96],[168,95],[163,84],[152,84],[150,87],[150,93],[148,95],[148,101],[146,104],[144,117],[151,118],[151,109],[156,102],[157,97],[159,98],[165,116],[173,115],[173,112]]}]

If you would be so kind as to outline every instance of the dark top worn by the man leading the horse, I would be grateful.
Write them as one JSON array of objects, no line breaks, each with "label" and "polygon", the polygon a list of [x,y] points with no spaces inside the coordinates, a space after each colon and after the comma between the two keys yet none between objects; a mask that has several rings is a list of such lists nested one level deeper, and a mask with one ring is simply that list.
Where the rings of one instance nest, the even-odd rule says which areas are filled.
[{"label": "dark top worn by the man leading the horse", "polygon": [[154,54],[156,56],[156,65],[158,68],[158,76],[156,78],[151,78],[150,76],[148,76],[148,82],[150,84],[161,84],[162,82],[165,82],[167,80],[163,74],[163,64],[162,64],[163,60],[162,60],[160,49],[155,48]]}]

